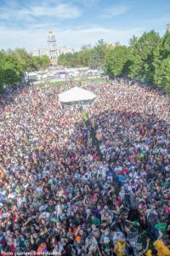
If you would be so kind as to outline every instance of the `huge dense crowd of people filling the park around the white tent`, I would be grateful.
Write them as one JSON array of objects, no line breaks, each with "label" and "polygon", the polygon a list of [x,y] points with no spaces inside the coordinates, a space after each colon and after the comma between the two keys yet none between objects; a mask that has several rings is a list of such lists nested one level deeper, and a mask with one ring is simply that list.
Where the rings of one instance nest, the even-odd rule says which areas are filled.
[{"label": "huge dense crowd of people filling the park around the white tent", "polygon": [[[3,256],[170,255],[170,96],[126,79],[0,97]],[[24,254],[23,254],[24,255]]]}]

